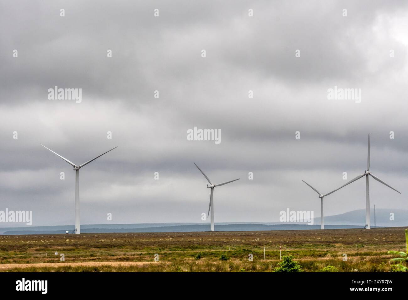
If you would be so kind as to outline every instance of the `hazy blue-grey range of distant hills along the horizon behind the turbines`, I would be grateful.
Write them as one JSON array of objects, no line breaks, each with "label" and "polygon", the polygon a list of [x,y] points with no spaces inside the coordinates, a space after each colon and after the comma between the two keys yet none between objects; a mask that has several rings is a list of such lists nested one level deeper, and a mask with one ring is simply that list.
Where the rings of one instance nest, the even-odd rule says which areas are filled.
[{"label": "hazy blue-grey range of distant hills along the horizon behind the turbines", "polygon": [[[394,213],[394,221],[390,220],[390,213]],[[335,216],[324,218],[325,229],[363,228],[366,221],[366,211],[359,209]],[[408,226],[408,210],[376,209],[377,227]],[[371,212],[371,227],[374,227],[374,209]],[[72,233],[74,225],[8,227],[0,228],[0,234],[61,234],[65,231]],[[282,222],[230,222],[215,223],[216,231],[262,231],[262,230],[305,230],[320,229],[320,218],[314,218],[313,225],[305,223]],[[84,224],[81,233],[113,233],[113,232],[193,232],[209,231],[208,223],[142,223],[142,224]]]}]

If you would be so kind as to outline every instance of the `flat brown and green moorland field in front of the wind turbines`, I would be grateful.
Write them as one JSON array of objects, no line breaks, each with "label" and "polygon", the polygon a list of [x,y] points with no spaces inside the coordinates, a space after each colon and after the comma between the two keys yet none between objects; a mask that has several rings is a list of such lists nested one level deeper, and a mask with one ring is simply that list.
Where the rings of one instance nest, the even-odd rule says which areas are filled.
[{"label": "flat brown and green moorland field in front of the wind turbines", "polygon": [[280,245],[304,271],[384,272],[388,250],[406,251],[404,229],[0,236],[0,271],[273,271]]}]

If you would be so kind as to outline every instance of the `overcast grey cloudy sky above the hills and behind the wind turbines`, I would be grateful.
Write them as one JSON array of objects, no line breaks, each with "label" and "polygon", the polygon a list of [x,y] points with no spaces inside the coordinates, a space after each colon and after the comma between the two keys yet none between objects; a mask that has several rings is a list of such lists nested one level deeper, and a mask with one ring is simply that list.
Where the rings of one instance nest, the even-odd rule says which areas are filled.
[{"label": "overcast grey cloudy sky above the hills and behind the wind turbines", "polygon": [[[407,208],[407,1],[1,1],[0,31],[0,210],[33,225],[75,221],[75,172],[40,143],[75,164],[118,146],[80,170],[81,224],[204,222],[193,162],[241,178],[215,188],[215,222],[317,217],[302,179],[327,193],[363,173],[368,133],[370,171],[402,193],[370,178],[371,206]],[[54,86],[82,102],[49,100]],[[329,100],[335,86],[361,102]],[[221,143],[187,140],[194,127]],[[364,209],[364,181],[325,215]]]}]

